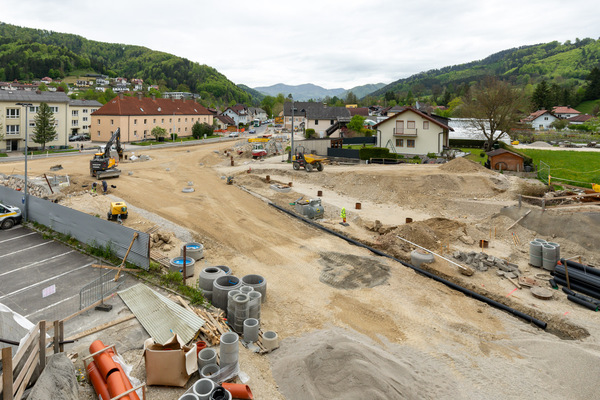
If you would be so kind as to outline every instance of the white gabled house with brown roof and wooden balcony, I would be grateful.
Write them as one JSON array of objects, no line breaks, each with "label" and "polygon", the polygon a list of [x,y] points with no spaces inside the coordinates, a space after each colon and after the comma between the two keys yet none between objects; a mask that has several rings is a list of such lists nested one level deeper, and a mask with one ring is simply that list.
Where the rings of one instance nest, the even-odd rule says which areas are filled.
[{"label": "white gabled house with brown roof and wooden balcony", "polygon": [[374,129],[378,131],[377,147],[387,147],[392,153],[409,156],[441,153],[449,147],[449,132],[453,130],[412,107],[394,112]]}]

